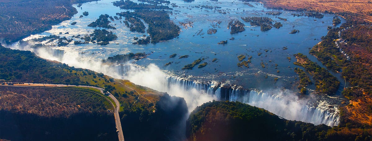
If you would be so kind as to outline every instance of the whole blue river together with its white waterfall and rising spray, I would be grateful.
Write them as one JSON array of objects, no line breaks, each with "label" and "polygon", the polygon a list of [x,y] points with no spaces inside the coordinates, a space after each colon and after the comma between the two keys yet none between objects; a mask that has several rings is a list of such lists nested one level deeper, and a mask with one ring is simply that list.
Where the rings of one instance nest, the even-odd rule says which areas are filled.
[{"label": "whole blue river together with its white waterfall and rising spray", "polygon": [[[24,40],[32,45],[35,42],[31,39],[42,36],[59,35],[71,38],[73,35],[91,34],[97,28],[87,25],[95,21],[99,15],[116,16],[116,13],[126,11],[113,6],[113,1],[100,0],[84,3],[81,8],[74,5],[78,13],[71,20],[55,25],[49,31],[31,35]],[[320,37],[327,34],[327,26],[332,26],[334,15],[324,14],[324,18],[321,19],[297,17],[291,14],[300,12],[266,9],[261,3],[250,3],[252,6],[248,6],[240,1],[230,0],[196,0],[192,3],[171,0],[171,3],[179,6],[172,7],[173,10],[170,11],[173,13],[170,14],[170,18],[180,26],[181,32],[179,37],[170,41],[147,45],[132,44],[135,42],[133,37],[148,36],[148,34],[131,32],[129,28],[120,23],[120,20],[115,20],[111,25],[117,29],[108,30],[118,35],[118,39],[110,41],[110,44],[106,46],[92,43],[74,45],[71,42],[67,46],[57,47],[56,41],[48,42],[47,40],[41,42],[47,44],[46,48],[20,47],[17,44],[12,48],[32,50],[47,59],[103,72],[116,78],[129,79],[139,85],[185,97],[190,111],[213,99],[230,100],[262,107],[286,119],[302,120],[314,124],[325,123],[331,126],[338,124],[339,98],[313,95],[298,98],[295,93],[298,75],[293,70],[298,67],[293,65],[296,61],[293,54],[296,53],[303,53],[314,62],[318,62],[308,54],[308,51],[320,41]],[[221,8],[195,7],[199,5]],[[217,10],[224,10],[226,13],[219,13]],[[89,15],[79,18],[84,11],[89,12]],[[282,12],[282,14],[267,15],[267,12],[273,11]],[[281,22],[283,27],[260,31],[259,26],[250,26],[249,23],[240,19],[247,16],[269,17],[273,19],[273,23]],[[278,17],[286,18],[287,21],[280,20]],[[243,22],[246,30],[230,34],[227,25],[231,19]],[[344,19],[341,21],[344,22]],[[77,22],[77,24],[71,25],[72,22]],[[145,24],[145,26],[148,25]],[[215,28],[217,32],[207,34],[209,28]],[[289,34],[293,29],[298,29],[300,32]],[[63,34],[65,32],[69,34]],[[229,40],[232,37],[235,39]],[[74,38],[74,40],[78,39]],[[223,40],[228,40],[228,43],[217,44]],[[105,66],[100,63],[107,57],[129,52],[145,52],[150,55],[145,59],[131,61],[125,66]],[[177,56],[169,58],[174,53]],[[239,63],[237,56],[240,54],[247,58],[252,56],[249,68],[237,66]],[[182,55],[189,55],[189,57],[179,59]],[[199,58],[204,59],[201,63],[207,62],[208,65],[204,68],[195,66],[192,70],[182,70],[183,66]],[[215,58],[217,61],[212,62]],[[165,66],[168,62],[172,62],[171,65]],[[278,78],[278,81],[275,81],[275,78]],[[343,86],[344,82],[341,85]],[[308,89],[312,91],[315,88],[312,85]]]}]

